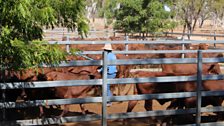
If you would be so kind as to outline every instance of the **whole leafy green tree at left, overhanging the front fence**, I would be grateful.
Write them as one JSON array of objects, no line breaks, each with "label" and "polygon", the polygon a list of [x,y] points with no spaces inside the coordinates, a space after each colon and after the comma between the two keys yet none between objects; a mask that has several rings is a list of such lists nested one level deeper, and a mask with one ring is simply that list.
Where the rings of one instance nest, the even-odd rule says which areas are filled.
[{"label": "whole leafy green tree at left, overhanging the front fence", "polygon": [[43,28],[77,29],[85,36],[85,0],[0,0],[0,66],[6,70],[57,65],[66,53],[42,41]]}]

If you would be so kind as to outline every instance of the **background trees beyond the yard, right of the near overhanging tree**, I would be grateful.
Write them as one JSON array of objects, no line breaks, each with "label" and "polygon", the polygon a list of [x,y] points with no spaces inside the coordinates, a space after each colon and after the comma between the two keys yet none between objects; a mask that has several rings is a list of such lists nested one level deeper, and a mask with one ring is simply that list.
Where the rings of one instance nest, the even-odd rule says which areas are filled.
[{"label": "background trees beyond the yard, right of the near overhanging tree", "polygon": [[[183,26],[192,33],[196,25],[212,21],[212,29],[224,27],[223,0],[91,0],[96,3],[98,17],[113,23],[117,30],[131,33],[155,33]],[[165,6],[170,12],[165,11]],[[144,34],[143,34],[144,35]]]}]

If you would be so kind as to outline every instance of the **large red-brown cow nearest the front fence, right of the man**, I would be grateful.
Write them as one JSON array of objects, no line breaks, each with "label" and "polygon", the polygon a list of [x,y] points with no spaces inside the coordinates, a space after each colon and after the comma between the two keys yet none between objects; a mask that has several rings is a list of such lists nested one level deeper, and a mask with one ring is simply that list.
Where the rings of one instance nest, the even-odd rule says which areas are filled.
[{"label": "large red-brown cow nearest the front fence, right of the man", "polygon": [[[165,72],[145,72],[137,71],[132,73],[135,77],[161,77],[161,76],[191,76],[192,74],[178,74],[178,73],[165,73]],[[205,91],[224,90],[224,80],[207,80],[203,81],[202,89]],[[193,92],[196,91],[197,84],[195,81],[187,82],[148,82],[142,84],[135,84],[134,94],[154,94],[154,93],[171,93],[171,92]],[[167,109],[176,108],[192,108],[196,105],[196,97],[190,98],[174,98],[174,99],[157,99],[162,105],[165,102],[171,101],[171,104]],[[203,97],[202,106],[213,105],[221,106],[223,97]],[[129,101],[127,112],[131,112],[137,101]],[[152,99],[145,100],[144,108],[147,111],[152,110]],[[221,118],[223,113],[217,113],[218,117]]]}]

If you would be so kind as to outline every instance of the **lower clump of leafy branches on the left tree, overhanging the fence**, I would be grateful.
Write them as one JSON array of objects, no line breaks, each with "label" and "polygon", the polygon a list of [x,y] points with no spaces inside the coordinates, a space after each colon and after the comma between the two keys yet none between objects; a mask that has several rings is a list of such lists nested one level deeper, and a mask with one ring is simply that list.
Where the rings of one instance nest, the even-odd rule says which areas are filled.
[{"label": "lower clump of leafy branches on the left tree, overhanging the fence", "polygon": [[37,68],[41,64],[56,66],[60,61],[65,60],[65,52],[57,44],[49,45],[47,42],[34,40],[24,43],[15,38],[9,40],[10,30],[3,28],[1,43],[0,64],[8,70],[23,70]]}]

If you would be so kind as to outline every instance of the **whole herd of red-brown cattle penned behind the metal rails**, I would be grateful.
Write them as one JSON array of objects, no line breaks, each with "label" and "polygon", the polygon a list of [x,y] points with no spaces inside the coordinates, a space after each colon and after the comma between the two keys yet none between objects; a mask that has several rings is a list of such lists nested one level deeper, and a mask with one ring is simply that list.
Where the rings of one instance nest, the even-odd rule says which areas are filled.
[{"label": "whole herd of red-brown cattle penned behind the metal rails", "polygon": [[[112,45],[114,50],[124,50],[124,44]],[[72,45],[72,48],[78,48],[80,50],[100,50],[103,45]],[[180,45],[157,45],[150,46],[145,44],[132,44],[129,46],[129,50],[181,50]],[[188,49],[207,49],[206,44],[188,45]],[[101,59],[99,55],[88,55],[93,59]],[[186,54],[186,57],[196,57],[196,54]],[[142,54],[142,55],[122,55],[117,54],[118,59],[143,59],[143,58],[180,58],[181,54]],[[203,54],[203,57],[223,57],[222,53],[209,53]],[[71,56],[68,60],[85,60],[83,57]],[[38,71],[26,70],[26,71],[5,71],[0,74],[1,82],[27,82],[27,81],[55,81],[55,80],[89,80],[100,79],[101,75],[96,71],[98,66],[82,66],[82,67],[63,67],[63,68],[40,68]],[[197,74],[196,64],[161,64],[162,72],[146,72],[137,71],[130,72],[134,65],[118,65],[117,78],[130,78],[130,77],[161,77],[161,76],[188,76]],[[203,74],[221,74],[221,68],[218,63],[203,64]],[[164,83],[164,84],[163,84]],[[163,82],[163,83],[143,83],[133,84],[134,94],[153,94],[153,93],[170,93],[170,92],[191,92],[196,90],[196,82]],[[202,82],[203,90],[214,91],[224,90],[224,80],[207,80]],[[114,85],[118,89],[124,87]],[[52,88],[40,88],[40,89],[8,89],[4,93],[6,97],[4,101],[16,101],[18,97],[26,100],[40,100],[40,99],[57,99],[57,98],[84,98],[87,96],[99,95],[98,86],[74,86],[74,87],[52,87]],[[2,90],[1,90],[2,91]],[[1,92],[2,93],[2,92]],[[119,95],[119,94],[116,94]],[[1,97],[3,100],[3,98]],[[202,105],[221,106],[223,97],[206,97],[202,99]],[[176,108],[190,108],[195,107],[196,98],[181,98],[181,99],[162,99],[157,100],[160,104],[171,101],[168,109]],[[131,112],[136,106],[137,101],[129,101],[127,112]],[[145,109],[147,111],[152,110],[152,100],[145,100]],[[82,113],[85,114],[86,108],[81,104],[80,108]],[[39,107],[40,116],[44,115],[43,107]],[[69,111],[69,105],[65,105],[63,112],[60,116],[64,116]],[[220,114],[220,113],[218,113]]]}]

